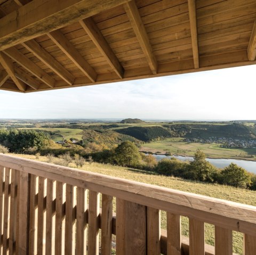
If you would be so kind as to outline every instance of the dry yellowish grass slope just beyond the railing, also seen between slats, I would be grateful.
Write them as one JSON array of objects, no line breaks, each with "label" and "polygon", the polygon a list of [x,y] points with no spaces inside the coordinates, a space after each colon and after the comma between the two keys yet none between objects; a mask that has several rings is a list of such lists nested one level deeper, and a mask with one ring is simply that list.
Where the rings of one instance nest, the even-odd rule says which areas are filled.
[{"label": "dry yellowish grass slope just beyond the railing, also seen between slats", "polygon": [[[39,161],[47,162],[46,157],[36,157],[34,155],[17,155],[15,156],[35,159]],[[54,159],[54,163],[58,163],[58,159]],[[75,167],[74,163],[69,164],[70,167]],[[106,164],[99,163],[86,163],[82,167],[85,171],[98,172],[100,174],[121,177],[125,179],[136,180],[138,182],[154,184],[158,186],[174,188],[176,190],[202,194],[211,196],[213,198],[225,199],[238,203],[250,204],[256,206],[256,192],[244,190],[240,188],[234,188],[230,186],[222,186],[219,184],[206,184],[199,182],[192,182],[189,180],[183,180],[174,177],[166,177],[156,175],[147,171],[109,166]],[[115,201],[114,201],[115,208]],[[161,218],[162,228],[166,228],[166,213],[162,212]],[[182,217],[182,235],[188,236],[188,218]],[[214,245],[214,226],[205,224],[205,242],[207,244]],[[237,254],[242,254],[243,248],[243,236],[240,233],[233,233],[233,250]]]}]

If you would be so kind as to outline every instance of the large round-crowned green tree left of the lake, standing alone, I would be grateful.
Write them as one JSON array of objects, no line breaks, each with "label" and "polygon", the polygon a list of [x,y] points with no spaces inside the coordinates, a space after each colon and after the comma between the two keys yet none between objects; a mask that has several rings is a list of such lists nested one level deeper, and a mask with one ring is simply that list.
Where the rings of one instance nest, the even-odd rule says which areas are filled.
[{"label": "large round-crowned green tree left of the lake, standing alone", "polygon": [[136,166],[141,160],[138,147],[130,141],[125,141],[116,147],[114,158],[120,166]]}]

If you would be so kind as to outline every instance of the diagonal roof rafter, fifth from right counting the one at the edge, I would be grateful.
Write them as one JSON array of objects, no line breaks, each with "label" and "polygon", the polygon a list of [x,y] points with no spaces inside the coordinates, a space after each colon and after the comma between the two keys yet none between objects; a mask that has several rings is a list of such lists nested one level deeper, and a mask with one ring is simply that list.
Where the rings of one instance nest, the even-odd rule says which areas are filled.
[{"label": "diagonal roof rafter, fifth from right counting the one at the edge", "polygon": [[84,57],[76,50],[75,46],[62,34],[60,30],[55,30],[47,34],[53,42],[71,59],[76,66],[91,80],[97,79],[97,73]]}]

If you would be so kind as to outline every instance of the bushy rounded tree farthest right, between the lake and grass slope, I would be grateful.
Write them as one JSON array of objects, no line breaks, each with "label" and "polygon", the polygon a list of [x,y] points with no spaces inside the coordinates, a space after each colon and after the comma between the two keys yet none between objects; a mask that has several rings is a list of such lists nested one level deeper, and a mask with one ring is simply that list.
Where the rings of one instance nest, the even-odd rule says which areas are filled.
[{"label": "bushy rounded tree farthest right, between the lake and grass slope", "polygon": [[235,163],[230,163],[221,171],[223,183],[236,188],[246,188],[251,184],[251,176],[244,168],[238,167]]}]

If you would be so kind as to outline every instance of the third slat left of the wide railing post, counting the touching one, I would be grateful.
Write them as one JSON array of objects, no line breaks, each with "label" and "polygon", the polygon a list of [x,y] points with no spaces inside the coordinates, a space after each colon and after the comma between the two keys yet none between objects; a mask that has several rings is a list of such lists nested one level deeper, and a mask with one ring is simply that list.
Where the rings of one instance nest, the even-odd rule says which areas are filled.
[{"label": "third slat left of the wide railing post, counting the touching one", "polygon": [[88,215],[88,255],[99,254],[99,213],[100,194],[89,192],[89,215]]}]

